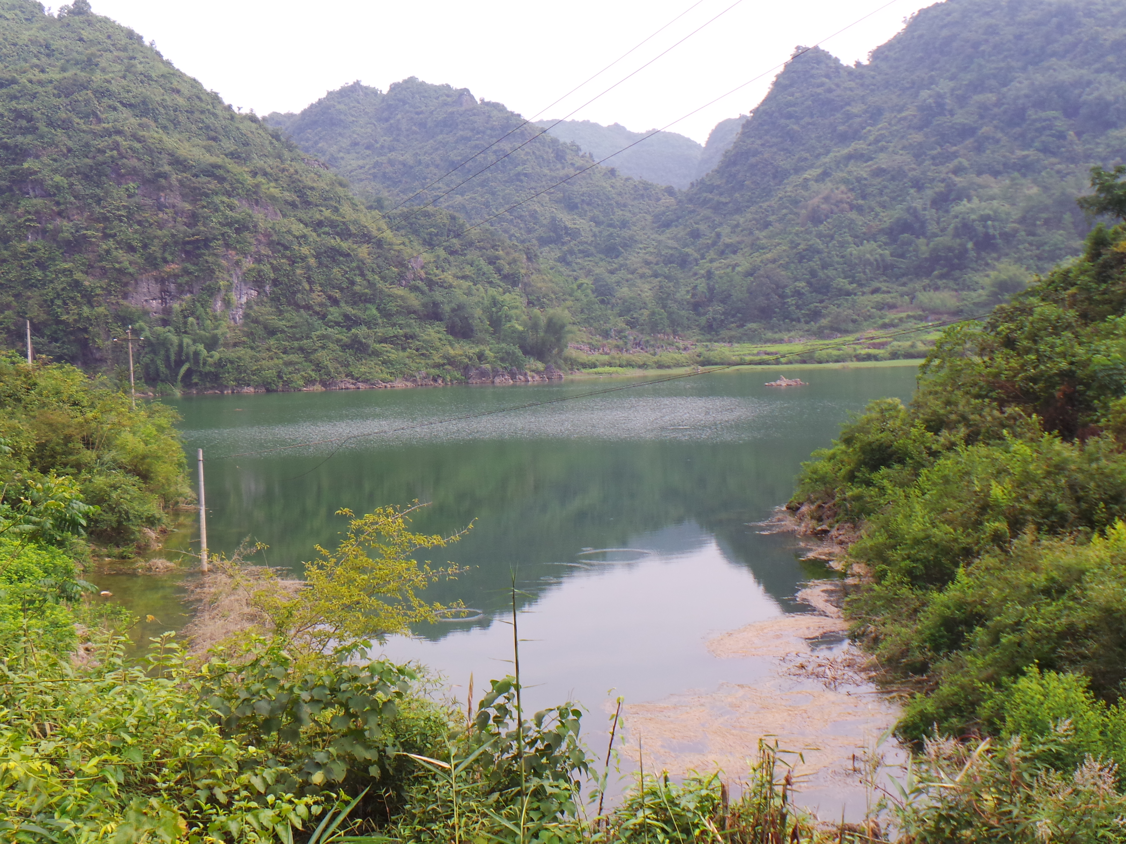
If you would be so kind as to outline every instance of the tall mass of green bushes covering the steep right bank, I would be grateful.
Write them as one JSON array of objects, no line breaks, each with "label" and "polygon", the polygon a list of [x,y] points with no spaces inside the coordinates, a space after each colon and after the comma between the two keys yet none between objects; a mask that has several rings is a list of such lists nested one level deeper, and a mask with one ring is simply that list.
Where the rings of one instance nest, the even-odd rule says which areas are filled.
[{"label": "tall mass of green bushes covering the steep right bank", "polygon": [[[1097,169],[1097,196],[1121,174]],[[947,330],[921,371],[909,407],[875,402],[815,455],[789,505],[859,528],[849,556],[873,582],[848,611],[888,680],[918,692],[901,733],[1027,733],[1021,684],[1051,698],[1058,675],[1117,724],[1126,226],[1096,227],[1082,259]],[[1126,761],[1119,729],[1075,746]]]}]

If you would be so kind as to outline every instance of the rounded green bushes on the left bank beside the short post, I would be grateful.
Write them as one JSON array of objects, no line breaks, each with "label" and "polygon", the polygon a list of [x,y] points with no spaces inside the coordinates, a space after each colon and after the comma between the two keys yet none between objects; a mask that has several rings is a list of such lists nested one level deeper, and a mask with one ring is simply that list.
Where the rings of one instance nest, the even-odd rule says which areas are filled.
[{"label": "rounded green bushes on the left bank beside the short post", "polygon": [[131,407],[72,366],[0,357],[0,519],[47,544],[82,529],[108,545],[150,541],[190,496],[176,419],[160,404]]}]

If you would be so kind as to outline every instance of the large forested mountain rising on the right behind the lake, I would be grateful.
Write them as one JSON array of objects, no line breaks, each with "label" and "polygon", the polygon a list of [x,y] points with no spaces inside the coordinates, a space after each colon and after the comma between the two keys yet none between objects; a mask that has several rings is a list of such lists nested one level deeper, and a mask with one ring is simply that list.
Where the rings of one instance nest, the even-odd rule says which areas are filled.
[{"label": "large forested mountain rising on the right behind the lake", "polygon": [[1115,0],[947,0],[868,64],[797,55],[662,221],[699,259],[694,312],[843,331],[980,311],[1078,253],[1074,196],[1124,154],[1124,44]]}]

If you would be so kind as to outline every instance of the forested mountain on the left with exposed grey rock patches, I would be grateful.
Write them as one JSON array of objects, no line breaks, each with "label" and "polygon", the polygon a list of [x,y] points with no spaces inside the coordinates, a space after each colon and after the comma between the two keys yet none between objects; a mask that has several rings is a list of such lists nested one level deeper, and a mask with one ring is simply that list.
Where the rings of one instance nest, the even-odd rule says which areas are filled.
[{"label": "forested mountain on the left with exposed grey rock patches", "polygon": [[150,381],[292,388],[522,366],[562,343],[539,308],[581,309],[488,228],[447,241],[464,223],[431,212],[388,230],[87,0],[0,0],[0,138],[10,345],[28,318],[38,352],[120,365],[132,324]]}]

